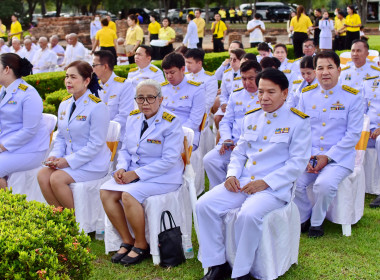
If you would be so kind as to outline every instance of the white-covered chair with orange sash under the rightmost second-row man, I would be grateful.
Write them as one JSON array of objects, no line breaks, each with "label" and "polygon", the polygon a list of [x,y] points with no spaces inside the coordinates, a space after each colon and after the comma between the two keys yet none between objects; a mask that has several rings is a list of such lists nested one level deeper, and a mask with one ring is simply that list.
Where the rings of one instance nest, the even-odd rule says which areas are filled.
[{"label": "white-covered chair with orange sash under the rightmost second-row man", "polygon": [[[365,173],[363,162],[369,138],[369,124],[369,117],[364,115],[362,134],[355,147],[354,172],[339,184],[337,194],[326,213],[329,221],[342,225],[344,236],[351,236],[351,225],[356,224],[364,212]],[[313,191],[310,186],[308,195],[313,201]]]}]

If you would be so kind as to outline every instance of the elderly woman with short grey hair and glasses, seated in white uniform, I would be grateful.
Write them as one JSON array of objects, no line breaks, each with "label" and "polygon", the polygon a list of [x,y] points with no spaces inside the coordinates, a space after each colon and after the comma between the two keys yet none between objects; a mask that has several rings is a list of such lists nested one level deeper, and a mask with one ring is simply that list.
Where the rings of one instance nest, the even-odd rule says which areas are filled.
[{"label": "elderly woman with short grey hair and glasses, seated in white uniform", "polygon": [[181,121],[161,106],[160,85],[151,79],[141,82],[135,100],[139,109],[127,119],[117,171],[100,191],[104,210],[123,240],[111,261],[123,265],[139,263],[149,256],[141,204],[150,196],[177,190],[184,168]]}]

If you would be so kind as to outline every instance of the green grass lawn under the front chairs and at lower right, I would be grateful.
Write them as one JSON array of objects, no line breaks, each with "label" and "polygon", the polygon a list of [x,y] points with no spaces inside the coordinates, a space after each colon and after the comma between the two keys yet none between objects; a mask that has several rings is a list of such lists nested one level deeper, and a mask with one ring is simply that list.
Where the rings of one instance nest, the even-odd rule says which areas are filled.
[{"label": "green grass lawn under the front chairs and at lower right", "polygon": [[[352,227],[351,237],[342,236],[341,226],[327,221],[323,238],[309,239],[302,234],[298,265],[279,279],[380,279],[380,209],[368,206],[374,197],[366,195],[364,216]],[[193,246],[196,255],[198,242],[194,231]],[[171,269],[154,266],[151,258],[136,266],[123,267],[110,262],[102,241],[93,240],[91,250],[97,258],[90,279],[200,279],[203,275],[196,258]]]}]

